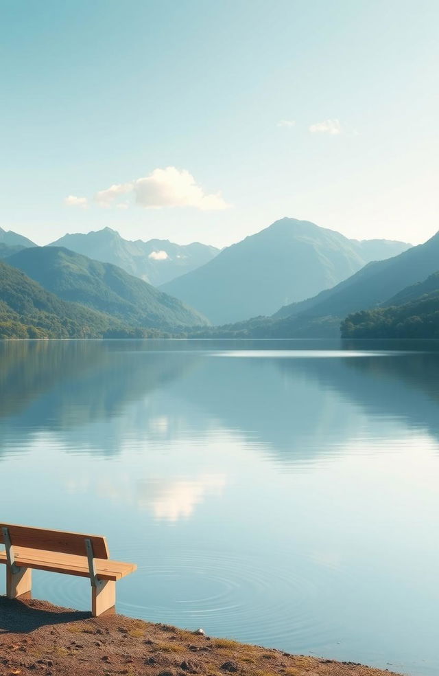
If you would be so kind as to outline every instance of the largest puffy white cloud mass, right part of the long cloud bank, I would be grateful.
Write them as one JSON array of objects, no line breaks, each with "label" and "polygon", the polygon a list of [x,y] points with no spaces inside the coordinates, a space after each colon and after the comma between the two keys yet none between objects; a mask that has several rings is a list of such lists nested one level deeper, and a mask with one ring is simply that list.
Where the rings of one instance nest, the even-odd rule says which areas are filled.
[{"label": "largest puffy white cloud mass, right part of the long cloud bank", "polygon": [[147,177],[134,181],[137,204],[142,207],[195,207],[202,211],[226,209],[217,194],[206,194],[192,174],[176,167],[154,169]]}]

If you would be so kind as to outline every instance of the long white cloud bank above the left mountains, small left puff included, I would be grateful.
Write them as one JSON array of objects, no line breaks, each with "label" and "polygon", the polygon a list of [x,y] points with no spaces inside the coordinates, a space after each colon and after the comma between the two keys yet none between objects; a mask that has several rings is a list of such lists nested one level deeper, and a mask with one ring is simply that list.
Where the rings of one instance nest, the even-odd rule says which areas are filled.
[{"label": "long white cloud bank above the left mountains, small left puff included", "polygon": [[[120,197],[131,196],[132,199],[120,201]],[[130,181],[130,183],[113,183],[110,188],[99,190],[94,196],[99,207],[108,209],[128,209],[133,203],[145,209],[162,207],[194,207],[201,211],[227,209],[220,192],[207,193],[198,185],[193,175],[185,169],[166,167],[154,169],[147,176]],[[69,195],[64,199],[69,206],[86,207],[86,197]]]}]

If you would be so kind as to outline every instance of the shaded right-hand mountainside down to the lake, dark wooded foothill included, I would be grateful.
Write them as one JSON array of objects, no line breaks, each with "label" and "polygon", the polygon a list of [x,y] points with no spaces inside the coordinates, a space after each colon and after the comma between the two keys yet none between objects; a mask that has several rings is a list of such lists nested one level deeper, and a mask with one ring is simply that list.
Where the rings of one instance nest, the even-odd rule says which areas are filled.
[{"label": "shaded right-hand mountainside down to the lake, dark wooded foothill included", "polygon": [[340,324],[344,337],[439,337],[439,232],[399,256],[370,262],[332,289],[284,306],[271,317],[206,328],[195,335],[339,337]]}]

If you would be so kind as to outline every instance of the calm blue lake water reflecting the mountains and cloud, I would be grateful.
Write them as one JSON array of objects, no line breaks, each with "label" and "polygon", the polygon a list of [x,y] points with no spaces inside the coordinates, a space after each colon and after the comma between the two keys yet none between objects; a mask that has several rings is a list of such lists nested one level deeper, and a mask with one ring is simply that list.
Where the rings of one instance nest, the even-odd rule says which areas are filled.
[{"label": "calm blue lake water reflecting the mountains and cloud", "polygon": [[[437,350],[4,342],[0,519],[106,534],[139,565],[121,613],[436,676]],[[34,596],[90,585],[37,571]]]}]

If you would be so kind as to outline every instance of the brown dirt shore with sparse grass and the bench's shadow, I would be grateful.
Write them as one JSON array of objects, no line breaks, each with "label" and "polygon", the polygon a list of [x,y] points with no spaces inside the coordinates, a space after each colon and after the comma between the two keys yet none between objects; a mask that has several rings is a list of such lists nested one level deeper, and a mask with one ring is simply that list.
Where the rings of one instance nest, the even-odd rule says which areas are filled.
[{"label": "brown dirt shore with sparse grass and the bench's shadow", "polygon": [[0,597],[0,676],[391,676],[167,624]]}]

